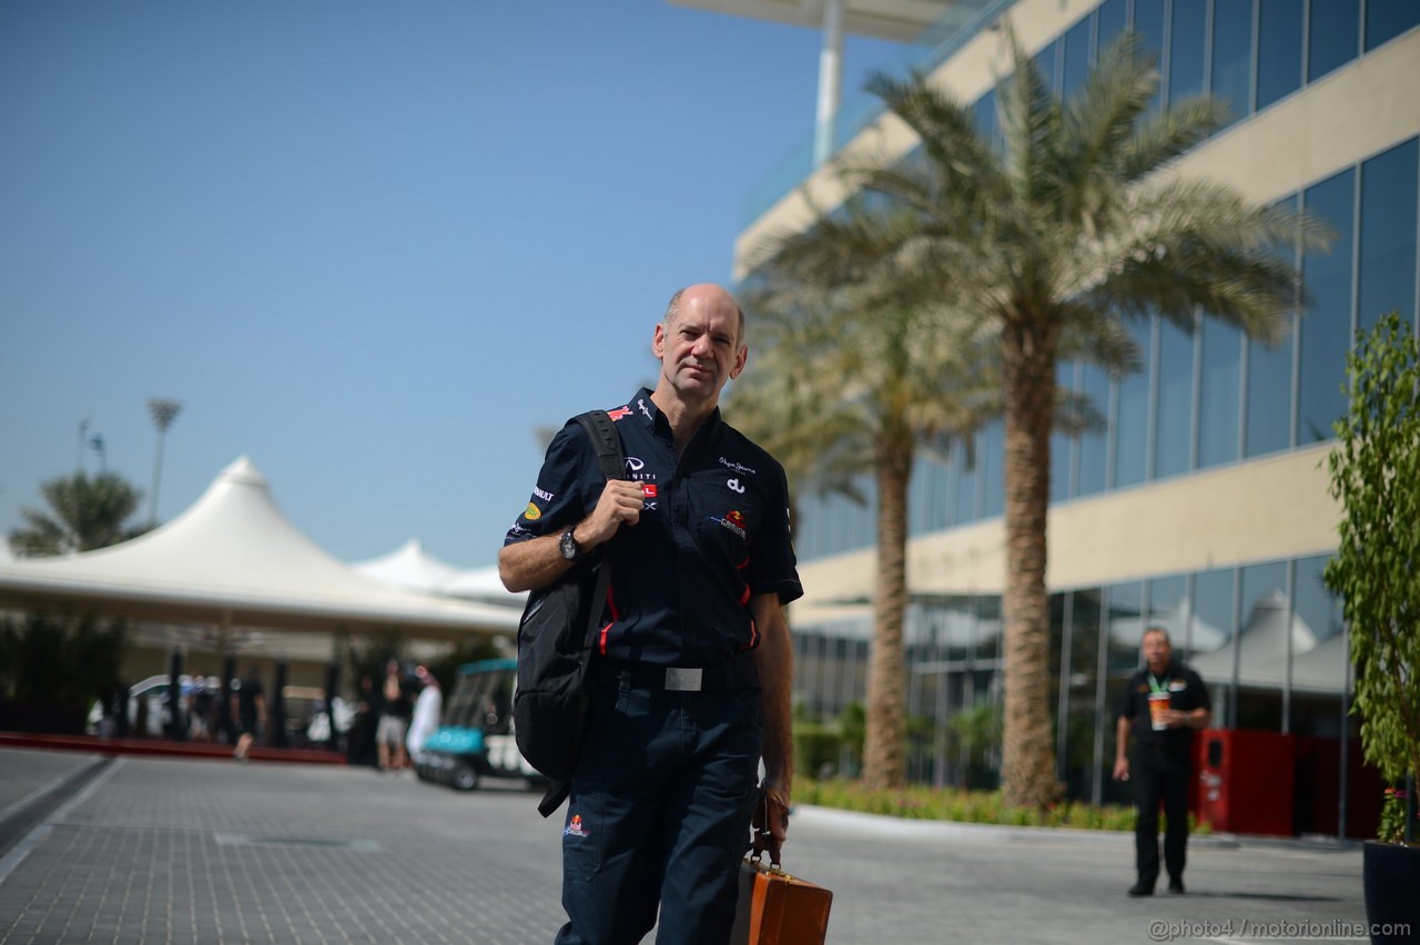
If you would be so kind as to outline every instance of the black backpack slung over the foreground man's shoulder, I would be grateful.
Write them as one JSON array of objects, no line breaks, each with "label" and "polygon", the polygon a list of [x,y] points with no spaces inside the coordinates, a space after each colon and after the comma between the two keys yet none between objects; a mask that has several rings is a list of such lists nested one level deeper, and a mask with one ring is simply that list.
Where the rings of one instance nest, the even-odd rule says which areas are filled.
[{"label": "black backpack slung over the foreground man's shoulder", "polygon": [[[605,410],[575,417],[596,450],[602,475],[626,475],[621,434]],[[538,812],[547,817],[567,799],[586,731],[586,667],[611,582],[611,560],[596,555],[528,595],[518,623],[518,687],[513,726],[518,751],[551,782]]]}]

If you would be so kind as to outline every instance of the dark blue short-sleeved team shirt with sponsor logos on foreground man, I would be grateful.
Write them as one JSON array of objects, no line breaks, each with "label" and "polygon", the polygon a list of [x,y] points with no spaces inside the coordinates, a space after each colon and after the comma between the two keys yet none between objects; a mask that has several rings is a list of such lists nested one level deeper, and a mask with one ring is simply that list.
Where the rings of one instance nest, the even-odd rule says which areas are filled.
[{"label": "dark blue short-sleeved team shirt with sponsor logos on foreground man", "polygon": [[[657,665],[721,665],[760,643],[750,597],[801,597],[784,468],[716,410],[676,460],[670,424],[642,389],[609,411],[642,485],[636,525],[608,542],[611,590],[598,651]],[[547,450],[537,488],[504,545],[557,535],[596,507],[605,480],[569,420]]]}]

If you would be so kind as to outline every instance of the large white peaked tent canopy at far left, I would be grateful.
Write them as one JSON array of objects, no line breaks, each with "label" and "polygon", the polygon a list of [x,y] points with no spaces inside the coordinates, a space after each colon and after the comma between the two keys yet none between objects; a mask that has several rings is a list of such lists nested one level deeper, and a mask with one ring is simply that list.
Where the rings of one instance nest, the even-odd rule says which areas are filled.
[{"label": "large white peaked tent canopy at far left", "polygon": [[187,511],[139,538],[0,563],[0,606],[321,631],[513,633],[518,614],[392,587],[337,560],[277,508],[247,457]]}]

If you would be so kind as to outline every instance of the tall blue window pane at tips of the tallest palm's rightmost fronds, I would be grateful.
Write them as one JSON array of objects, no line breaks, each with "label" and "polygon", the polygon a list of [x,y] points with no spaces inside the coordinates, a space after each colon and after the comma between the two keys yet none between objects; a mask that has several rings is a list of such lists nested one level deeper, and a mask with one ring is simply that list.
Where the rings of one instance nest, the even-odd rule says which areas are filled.
[{"label": "tall blue window pane at tips of the tallest palm's rightmost fronds", "polygon": [[1302,278],[1312,305],[1301,324],[1298,444],[1329,440],[1332,424],[1346,411],[1340,387],[1350,346],[1355,186],[1356,172],[1345,170],[1308,187],[1302,197],[1306,213],[1325,220],[1336,238],[1331,253],[1302,257]]}]

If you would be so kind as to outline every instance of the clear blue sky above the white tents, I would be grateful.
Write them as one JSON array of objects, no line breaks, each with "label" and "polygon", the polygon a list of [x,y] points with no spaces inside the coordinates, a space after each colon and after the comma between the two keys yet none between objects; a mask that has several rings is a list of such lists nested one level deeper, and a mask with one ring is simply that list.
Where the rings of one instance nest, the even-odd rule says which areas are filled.
[{"label": "clear blue sky above the white tents", "polygon": [[[663,0],[0,4],[0,534],[85,419],[151,491],[162,396],[160,519],[247,454],[338,558],[491,565],[535,429],[622,403],[670,292],[728,282],[819,38]],[[845,94],[896,57],[851,38]]]}]

